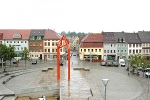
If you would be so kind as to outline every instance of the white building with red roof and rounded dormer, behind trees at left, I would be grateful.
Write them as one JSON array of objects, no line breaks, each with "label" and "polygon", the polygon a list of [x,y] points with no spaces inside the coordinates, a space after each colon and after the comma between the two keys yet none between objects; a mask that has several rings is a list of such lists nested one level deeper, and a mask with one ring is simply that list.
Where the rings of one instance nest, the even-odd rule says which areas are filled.
[{"label": "white building with red roof and rounded dormer, behind trees at left", "polygon": [[12,45],[15,48],[15,53],[17,57],[21,58],[21,53],[26,47],[28,49],[28,39],[31,30],[7,30],[6,33],[3,34],[4,44],[6,46]]}]

